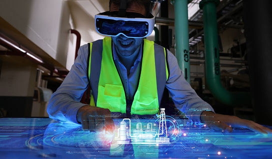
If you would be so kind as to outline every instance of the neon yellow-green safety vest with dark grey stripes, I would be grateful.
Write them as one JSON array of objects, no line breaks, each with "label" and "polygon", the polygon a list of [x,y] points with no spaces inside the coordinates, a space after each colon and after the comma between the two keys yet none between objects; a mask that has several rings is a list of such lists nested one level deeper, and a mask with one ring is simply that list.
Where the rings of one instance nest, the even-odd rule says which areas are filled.
[{"label": "neon yellow-green safety vest with dark grey stripes", "polygon": [[[88,43],[87,77],[92,90],[90,105],[126,113],[126,93],[113,59],[111,38]],[[168,79],[167,50],[144,39],[138,86],[131,114],[156,114]],[[129,71],[129,70],[128,70]]]}]

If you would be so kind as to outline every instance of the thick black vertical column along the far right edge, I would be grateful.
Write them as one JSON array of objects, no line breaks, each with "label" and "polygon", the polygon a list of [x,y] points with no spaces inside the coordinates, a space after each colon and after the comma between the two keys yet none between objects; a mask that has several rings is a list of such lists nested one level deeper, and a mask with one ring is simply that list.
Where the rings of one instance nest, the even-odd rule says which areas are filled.
[{"label": "thick black vertical column along the far right edge", "polygon": [[272,1],[243,0],[244,35],[255,119],[272,124]]}]

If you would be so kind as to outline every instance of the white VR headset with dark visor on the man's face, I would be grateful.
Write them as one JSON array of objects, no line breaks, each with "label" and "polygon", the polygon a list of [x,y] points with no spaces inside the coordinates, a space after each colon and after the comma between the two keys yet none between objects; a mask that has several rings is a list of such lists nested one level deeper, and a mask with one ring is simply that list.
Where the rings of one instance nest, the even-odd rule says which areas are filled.
[{"label": "white VR headset with dark visor on the man's face", "polygon": [[119,11],[106,11],[94,16],[96,31],[103,35],[140,38],[150,35],[155,24],[155,17],[148,17],[136,12],[126,12],[126,0],[121,0]]}]

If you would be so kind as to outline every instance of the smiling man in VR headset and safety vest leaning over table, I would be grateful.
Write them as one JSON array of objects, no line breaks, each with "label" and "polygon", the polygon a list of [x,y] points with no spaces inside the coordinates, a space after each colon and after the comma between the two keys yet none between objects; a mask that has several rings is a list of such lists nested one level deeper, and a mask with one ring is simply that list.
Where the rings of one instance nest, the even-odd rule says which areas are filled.
[{"label": "smiling man in VR headset and safety vest leaning over table", "polygon": [[[213,129],[226,132],[231,132],[231,126],[235,126],[262,134],[272,133],[253,121],[216,114],[197,96],[185,81],[173,54],[143,39],[150,33],[148,28],[153,28],[149,6],[150,0],[109,1],[109,12],[98,14],[95,22],[97,31],[111,38],[79,48],[69,74],[52,94],[47,108],[49,116],[58,121],[81,123],[83,129],[113,129],[112,117],[143,117],[158,113],[166,86],[175,106],[193,121],[205,122]],[[148,21],[145,34],[139,35],[136,26],[123,31],[124,26],[130,27],[126,18],[140,27],[144,24],[133,20]],[[85,105],[79,101],[89,83],[93,97],[91,104]]]}]

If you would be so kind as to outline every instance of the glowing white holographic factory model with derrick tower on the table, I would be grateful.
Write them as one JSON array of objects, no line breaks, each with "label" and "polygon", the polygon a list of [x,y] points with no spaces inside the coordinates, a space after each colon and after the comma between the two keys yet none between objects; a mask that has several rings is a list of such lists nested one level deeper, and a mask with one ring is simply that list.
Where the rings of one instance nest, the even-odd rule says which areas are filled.
[{"label": "glowing white holographic factory model with derrick tower on the table", "polygon": [[[130,119],[124,118],[120,122],[120,128],[118,128],[118,135],[115,137],[118,144],[169,144],[169,137],[167,135],[167,127],[165,120],[165,108],[160,108],[159,126],[158,131],[152,128],[152,123],[147,123],[146,128],[142,128],[141,122],[136,124],[136,128],[131,128]],[[126,121],[129,121],[127,127]],[[132,132],[131,132],[132,129]],[[131,142],[130,142],[131,139]]]}]

